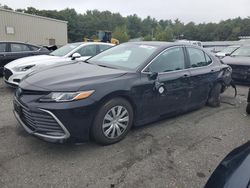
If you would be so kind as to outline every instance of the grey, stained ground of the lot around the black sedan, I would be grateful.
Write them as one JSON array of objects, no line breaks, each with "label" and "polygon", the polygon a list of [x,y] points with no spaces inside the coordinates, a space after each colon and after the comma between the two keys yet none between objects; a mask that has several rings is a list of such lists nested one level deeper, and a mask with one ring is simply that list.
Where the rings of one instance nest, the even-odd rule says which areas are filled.
[{"label": "grey, stained ground of the lot around the black sedan", "polygon": [[219,108],[134,129],[111,146],[50,144],[29,136],[0,79],[0,187],[203,187],[233,148],[250,138],[248,87],[229,89]]}]

